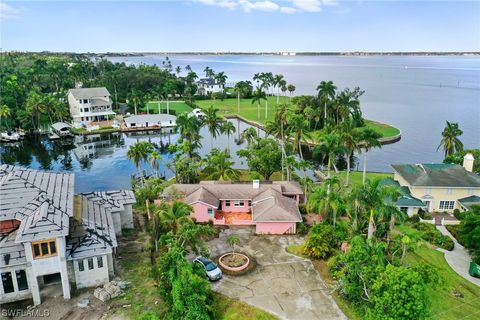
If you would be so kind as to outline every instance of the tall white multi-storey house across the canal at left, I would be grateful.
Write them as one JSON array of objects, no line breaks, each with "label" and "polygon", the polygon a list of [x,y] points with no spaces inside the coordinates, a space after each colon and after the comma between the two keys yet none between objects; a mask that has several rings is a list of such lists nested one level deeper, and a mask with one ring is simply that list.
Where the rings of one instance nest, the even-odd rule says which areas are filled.
[{"label": "tall white multi-storey house across the canal at left", "polygon": [[94,121],[107,121],[115,116],[107,88],[78,88],[68,90],[68,104],[76,128]]}]

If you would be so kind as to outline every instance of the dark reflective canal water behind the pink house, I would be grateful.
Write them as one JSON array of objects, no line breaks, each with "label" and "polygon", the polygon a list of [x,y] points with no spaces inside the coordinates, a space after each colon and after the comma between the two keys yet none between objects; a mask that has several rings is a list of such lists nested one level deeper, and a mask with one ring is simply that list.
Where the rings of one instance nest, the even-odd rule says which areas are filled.
[{"label": "dark reflective canal water behind the pink house", "polygon": [[[242,132],[250,125],[230,120],[237,130]],[[265,136],[258,130],[260,136]],[[203,157],[210,152],[210,134],[206,127],[200,131]],[[151,131],[138,133],[95,134],[75,136],[61,140],[49,140],[47,136],[34,135],[18,143],[0,144],[1,163],[15,164],[32,169],[71,171],[75,173],[75,192],[90,192],[131,188],[132,175],[138,172],[133,162],[127,159],[128,148],[137,141],[147,140],[154,143],[162,154],[159,174],[171,178],[174,173],[168,168],[172,155],[168,153],[168,145],[176,143],[179,134]],[[244,159],[236,152],[245,148],[244,143],[237,144],[238,133],[230,136],[230,144],[226,135],[213,139],[215,148],[225,149],[230,145],[232,159],[236,167],[247,168]],[[147,174],[152,174],[148,163],[142,164]]]}]

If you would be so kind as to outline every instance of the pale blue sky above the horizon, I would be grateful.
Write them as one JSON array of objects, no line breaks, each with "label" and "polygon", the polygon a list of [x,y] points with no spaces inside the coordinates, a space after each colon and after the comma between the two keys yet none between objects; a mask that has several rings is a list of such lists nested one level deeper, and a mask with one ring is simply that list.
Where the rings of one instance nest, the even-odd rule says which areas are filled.
[{"label": "pale blue sky above the horizon", "polygon": [[0,0],[3,51],[480,51],[480,1]]}]

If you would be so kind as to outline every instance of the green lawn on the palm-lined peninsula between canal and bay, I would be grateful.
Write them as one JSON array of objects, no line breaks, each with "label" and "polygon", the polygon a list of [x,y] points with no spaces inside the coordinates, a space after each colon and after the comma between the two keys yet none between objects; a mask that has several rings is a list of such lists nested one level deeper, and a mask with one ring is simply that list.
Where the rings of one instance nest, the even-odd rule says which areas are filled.
[{"label": "green lawn on the palm-lined peninsula between canal and bay", "polygon": [[[283,103],[285,97],[280,97],[280,103]],[[288,98],[286,98],[288,99]],[[210,106],[214,106],[220,110],[220,114],[224,116],[237,115],[237,99],[215,99],[215,100],[198,100],[195,103],[202,109],[206,109]],[[267,120],[274,120],[275,108],[277,105],[277,98],[274,96],[268,97],[268,117],[265,118],[265,100],[262,100],[260,104],[260,118],[258,118],[257,103],[252,104],[251,99],[240,99],[240,116],[260,124],[265,124]],[[366,126],[374,129],[378,133],[385,137],[392,137],[400,133],[395,127],[389,126],[384,123],[366,120]]]}]

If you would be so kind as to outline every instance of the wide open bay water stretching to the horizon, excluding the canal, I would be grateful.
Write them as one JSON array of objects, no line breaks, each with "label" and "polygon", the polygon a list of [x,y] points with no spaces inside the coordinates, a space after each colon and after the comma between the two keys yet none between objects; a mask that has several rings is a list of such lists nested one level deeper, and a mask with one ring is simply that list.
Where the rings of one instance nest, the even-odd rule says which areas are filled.
[{"label": "wide open bay water stretching to the horizon, excluding the canal", "polygon": [[[115,57],[112,61],[157,64],[164,56]],[[458,122],[465,148],[480,147],[480,58],[478,56],[169,56],[199,75],[209,66],[227,81],[257,72],[283,74],[294,94],[314,94],[322,80],[339,89],[360,87],[364,116],[402,130],[402,140],[368,154],[368,169],[391,172],[392,163],[439,162],[445,121]],[[359,163],[361,168],[362,163]]]}]

